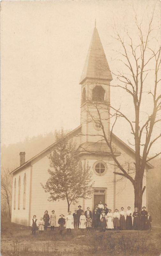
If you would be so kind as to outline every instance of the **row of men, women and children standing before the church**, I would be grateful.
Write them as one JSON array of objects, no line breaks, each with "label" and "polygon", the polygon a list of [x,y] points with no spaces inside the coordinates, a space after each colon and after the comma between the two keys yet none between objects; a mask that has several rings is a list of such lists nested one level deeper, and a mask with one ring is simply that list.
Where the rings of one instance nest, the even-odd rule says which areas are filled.
[{"label": "row of men, women and children standing before the church", "polygon": [[[143,206],[143,210],[138,212],[138,208],[135,207],[135,211],[132,212],[130,210],[130,206],[128,206],[128,210],[125,212],[124,208],[121,207],[121,211],[115,209],[115,212],[112,213],[111,209],[107,208],[107,204],[103,205],[100,201],[99,204],[95,205],[93,213],[90,208],[87,207],[87,210],[84,212],[82,206],[78,206],[78,210],[72,214],[71,211],[68,212],[68,215],[65,217],[63,214],[60,215],[58,220],[60,235],[62,235],[62,231],[65,229],[67,233],[71,233],[71,229],[80,228],[81,232],[84,229],[87,229],[87,232],[90,231],[91,227],[100,228],[100,231],[108,230],[151,230],[151,222],[152,218],[150,213],[148,213]],[[134,217],[132,223],[132,216]],[[65,217],[65,218],[64,218]],[[32,233],[35,234],[37,228],[39,228],[39,232],[42,233],[44,230],[46,231],[48,226],[51,226],[51,230],[54,230],[56,226],[56,215],[55,211],[52,211],[52,214],[49,216],[48,211],[45,211],[43,218],[40,218],[38,221],[36,219],[36,215],[33,216],[31,220]]]}]

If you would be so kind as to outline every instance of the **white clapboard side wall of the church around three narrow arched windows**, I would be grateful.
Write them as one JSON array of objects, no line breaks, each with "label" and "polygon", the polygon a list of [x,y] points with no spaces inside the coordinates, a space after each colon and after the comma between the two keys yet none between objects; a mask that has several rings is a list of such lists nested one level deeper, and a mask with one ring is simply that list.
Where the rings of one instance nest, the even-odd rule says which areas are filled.
[{"label": "white clapboard side wall of the church around three narrow arched windows", "polygon": [[[12,216],[11,222],[28,226],[29,216],[29,195],[30,195],[30,170],[31,167],[24,168],[24,170],[13,174],[12,186]],[[26,173],[26,203],[23,209],[23,191],[24,191],[24,174]],[[18,180],[20,176],[20,209],[18,209]],[[14,209],[14,182],[16,179],[16,209]]]}]

